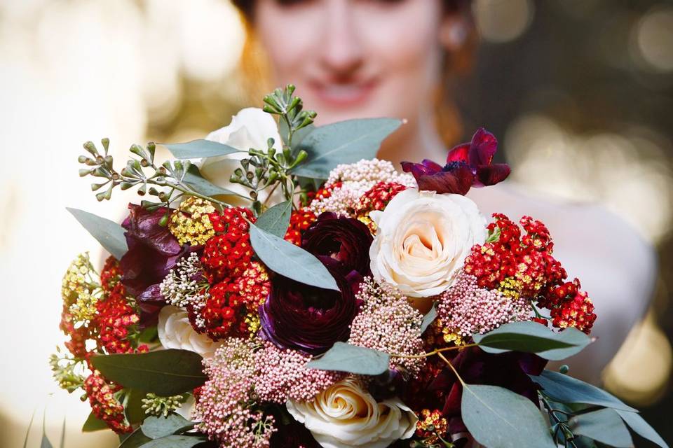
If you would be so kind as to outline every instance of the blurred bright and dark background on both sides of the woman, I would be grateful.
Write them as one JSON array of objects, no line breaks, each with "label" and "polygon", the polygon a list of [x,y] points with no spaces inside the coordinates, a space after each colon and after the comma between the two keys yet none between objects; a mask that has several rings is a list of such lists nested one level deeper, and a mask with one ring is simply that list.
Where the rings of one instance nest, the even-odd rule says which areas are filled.
[{"label": "blurred bright and dark background on both sides of the woman", "polygon": [[[468,140],[501,140],[514,180],[533,192],[600,202],[658,248],[648,314],[603,374],[673,440],[673,4],[660,0],[475,0],[475,67],[451,80]],[[95,241],[64,207],[97,205],[76,176],[81,144],[186,141],[250,102],[245,29],[226,0],[0,0],[0,446],[114,447],[81,434],[88,405],[47,364],[62,341],[60,281]],[[299,92],[301,94],[301,92]],[[619,241],[614,241],[619,244]],[[637,446],[647,446],[637,442]]]}]

